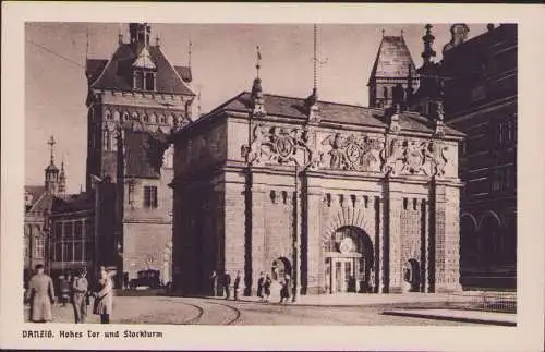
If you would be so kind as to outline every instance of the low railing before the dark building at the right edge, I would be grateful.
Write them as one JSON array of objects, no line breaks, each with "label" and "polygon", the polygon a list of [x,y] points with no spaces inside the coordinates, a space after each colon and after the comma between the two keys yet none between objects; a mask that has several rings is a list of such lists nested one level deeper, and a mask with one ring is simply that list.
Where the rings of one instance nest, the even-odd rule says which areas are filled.
[{"label": "low railing before the dark building at the right edge", "polygon": [[517,313],[517,292],[467,291],[452,293],[449,306],[500,313]]}]

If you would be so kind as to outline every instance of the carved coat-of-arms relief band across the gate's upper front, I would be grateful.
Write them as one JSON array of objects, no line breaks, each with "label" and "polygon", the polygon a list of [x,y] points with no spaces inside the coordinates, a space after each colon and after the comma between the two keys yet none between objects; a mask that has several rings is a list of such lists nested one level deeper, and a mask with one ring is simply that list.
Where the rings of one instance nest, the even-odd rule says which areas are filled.
[{"label": "carved coat-of-arms relief band across the gate's upper front", "polygon": [[[441,141],[400,136],[384,141],[380,136],[331,133],[315,149],[312,129],[264,125],[255,126],[252,137],[250,148],[243,146],[241,150],[246,162],[254,166],[296,162],[310,169],[444,177],[449,162],[448,146]],[[298,157],[298,151],[304,158]]]}]

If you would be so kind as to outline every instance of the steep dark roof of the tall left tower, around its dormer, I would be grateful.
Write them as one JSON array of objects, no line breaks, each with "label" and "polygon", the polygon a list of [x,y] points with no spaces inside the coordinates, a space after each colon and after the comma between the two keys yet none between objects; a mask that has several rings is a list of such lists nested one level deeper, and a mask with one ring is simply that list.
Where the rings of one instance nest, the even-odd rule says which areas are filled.
[{"label": "steep dark roof of the tall left tower, around its dormer", "polygon": [[[157,46],[148,46],[144,50],[148,51],[149,60],[157,68],[157,92],[195,95],[185,83],[191,81],[187,80],[191,78],[189,68],[174,69]],[[141,59],[146,61],[144,57]],[[133,51],[133,47],[130,44],[122,44],[107,63],[106,60],[87,60],[87,80],[94,88],[132,90],[132,65],[136,60],[137,54]]]}]

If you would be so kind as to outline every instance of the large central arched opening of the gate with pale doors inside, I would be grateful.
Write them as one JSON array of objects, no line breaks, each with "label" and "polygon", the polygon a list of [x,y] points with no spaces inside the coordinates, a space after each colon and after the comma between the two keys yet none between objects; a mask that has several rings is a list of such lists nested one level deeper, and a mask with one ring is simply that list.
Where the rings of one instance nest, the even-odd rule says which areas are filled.
[{"label": "large central arched opening of the gate with pale doors inside", "polygon": [[325,243],[326,292],[371,292],[373,253],[373,243],[364,230],[344,226],[335,231]]}]

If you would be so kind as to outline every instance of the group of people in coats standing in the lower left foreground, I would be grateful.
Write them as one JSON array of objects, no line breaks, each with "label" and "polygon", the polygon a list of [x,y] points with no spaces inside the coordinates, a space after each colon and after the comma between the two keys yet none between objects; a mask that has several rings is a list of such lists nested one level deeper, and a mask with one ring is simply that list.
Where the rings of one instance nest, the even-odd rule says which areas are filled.
[{"label": "group of people in coats standing in the lower left foreground", "polygon": [[[105,267],[100,267],[99,279],[94,290],[89,290],[87,270],[80,270],[76,277],[66,275],[60,282],[62,306],[72,303],[76,324],[85,323],[90,298],[94,299],[93,313],[100,315],[101,324],[110,323],[113,305],[113,281]],[[52,321],[52,305],[56,302],[53,280],[45,274],[44,265],[35,268],[35,274],[28,282],[25,300],[31,304],[31,321]]]}]

